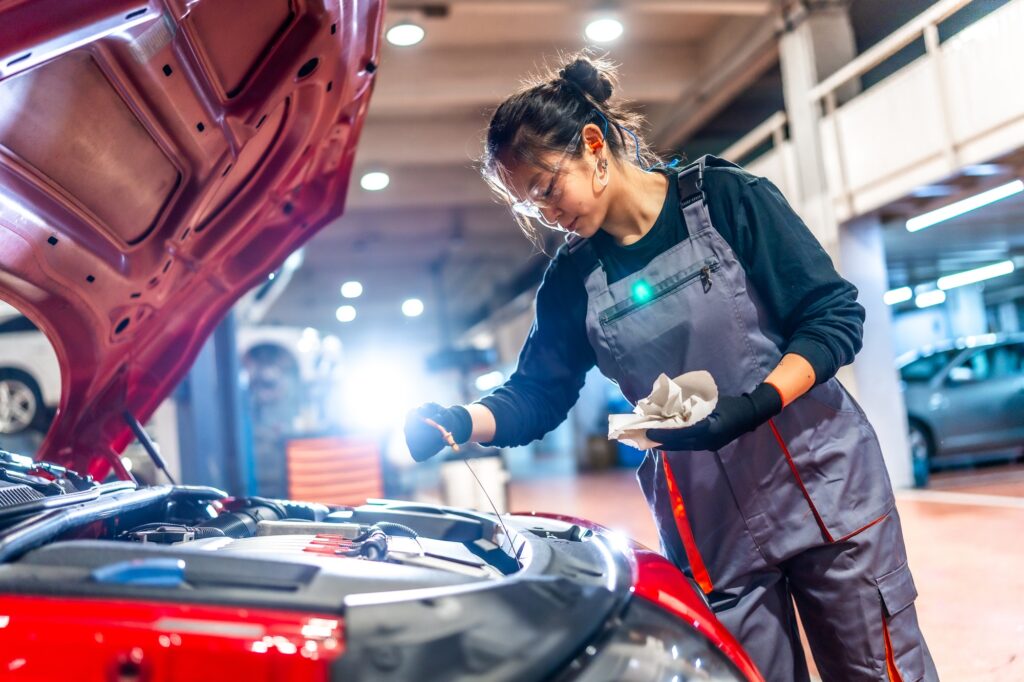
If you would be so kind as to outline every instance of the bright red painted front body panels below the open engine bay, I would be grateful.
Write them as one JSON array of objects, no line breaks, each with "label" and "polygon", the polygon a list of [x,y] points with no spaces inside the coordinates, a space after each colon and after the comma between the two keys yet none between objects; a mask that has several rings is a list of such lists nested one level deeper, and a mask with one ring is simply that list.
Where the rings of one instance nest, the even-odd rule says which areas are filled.
[{"label": "bright red painted front body panels below the open engine bay", "polygon": [[[544,515],[542,515],[544,516]],[[583,519],[551,516],[607,532]],[[721,649],[749,680],[762,677],[679,569],[640,545],[628,550],[636,595],[673,613]],[[160,602],[3,597],[0,673],[22,682],[52,680],[53,642],[75,662],[78,680],[316,682],[344,654],[337,614]]]}]

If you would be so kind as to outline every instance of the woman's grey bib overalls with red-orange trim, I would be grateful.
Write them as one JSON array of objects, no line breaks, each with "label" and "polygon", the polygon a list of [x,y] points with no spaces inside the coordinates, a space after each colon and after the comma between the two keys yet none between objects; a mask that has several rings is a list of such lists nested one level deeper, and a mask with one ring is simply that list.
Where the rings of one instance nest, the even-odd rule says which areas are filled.
[{"label": "woman's grey bib overalls with red-orange trim", "polygon": [[[706,163],[727,162],[705,158],[679,175],[689,238],[643,270],[609,286],[593,246],[569,242],[598,367],[634,404],[663,372],[708,370],[722,394],[739,395],[785,347],[711,223]],[[653,296],[636,302],[640,280]],[[937,679],[878,438],[836,379],[720,451],[648,451],[637,477],[663,551],[767,680],[809,679],[794,600],[823,679]]]}]

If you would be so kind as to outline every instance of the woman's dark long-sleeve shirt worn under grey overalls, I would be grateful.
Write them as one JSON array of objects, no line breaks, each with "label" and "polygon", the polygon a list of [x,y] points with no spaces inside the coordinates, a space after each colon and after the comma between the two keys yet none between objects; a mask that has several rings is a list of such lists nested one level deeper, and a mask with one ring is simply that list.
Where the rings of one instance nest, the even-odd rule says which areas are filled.
[{"label": "woman's dark long-sleeve shirt worn under grey overalls", "polygon": [[[805,357],[817,383],[836,375],[861,347],[864,308],[824,249],[769,180],[731,166],[706,166],[712,223],[735,252],[768,311],[782,323],[781,350]],[[603,231],[592,243],[615,282],[642,269],[688,237],[679,189],[670,176],[660,215],[644,237],[620,246]],[[587,338],[587,291],[562,247],[537,294],[534,327],[509,380],[480,399],[495,415],[493,445],[521,445],[558,426],[596,364]]]}]

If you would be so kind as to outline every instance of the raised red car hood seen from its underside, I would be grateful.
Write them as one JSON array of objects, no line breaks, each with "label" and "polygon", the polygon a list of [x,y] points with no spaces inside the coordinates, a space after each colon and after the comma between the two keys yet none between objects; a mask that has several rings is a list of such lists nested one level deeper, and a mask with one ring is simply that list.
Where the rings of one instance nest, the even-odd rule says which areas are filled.
[{"label": "raised red car hood seen from its underside", "polygon": [[343,209],[383,0],[0,0],[0,298],[53,343],[39,451],[94,476]]}]

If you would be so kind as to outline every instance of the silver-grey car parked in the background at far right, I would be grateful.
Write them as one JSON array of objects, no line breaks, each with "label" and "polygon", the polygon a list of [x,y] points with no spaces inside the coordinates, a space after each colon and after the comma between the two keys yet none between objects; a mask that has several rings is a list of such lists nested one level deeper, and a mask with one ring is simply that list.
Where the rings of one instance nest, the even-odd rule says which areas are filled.
[{"label": "silver-grey car parked in the background at far right", "polygon": [[897,360],[914,478],[965,460],[1024,451],[1024,334],[969,336]]}]

